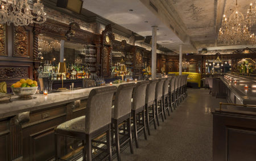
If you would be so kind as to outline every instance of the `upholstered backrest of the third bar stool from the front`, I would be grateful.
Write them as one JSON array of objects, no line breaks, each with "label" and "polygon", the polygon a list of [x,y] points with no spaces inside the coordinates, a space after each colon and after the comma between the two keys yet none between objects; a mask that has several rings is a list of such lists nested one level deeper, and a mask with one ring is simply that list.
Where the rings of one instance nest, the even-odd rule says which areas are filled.
[{"label": "upholstered backrest of the third bar stool from the front", "polygon": [[146,88],[149,81],[137,82],[133,90],[133,106],[132,109],[136,110],[145,105]]}]

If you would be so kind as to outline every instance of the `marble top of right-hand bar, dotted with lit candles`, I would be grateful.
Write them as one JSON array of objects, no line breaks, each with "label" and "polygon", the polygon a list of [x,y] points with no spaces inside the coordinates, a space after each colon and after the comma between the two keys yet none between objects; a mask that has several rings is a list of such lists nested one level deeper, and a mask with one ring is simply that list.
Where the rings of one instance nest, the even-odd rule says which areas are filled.
[{"label": "marble top of right-hand bar, dotted with lit candles", "polygon": [[[227,74],[227,77],[231,78],[233,81],[229,81],[224,77],[220,79],[226,84],[226,86],[233,92],[234,95],[241,101],[242,104],[256,105],[256,82],[250,79],[237,77],[233,74]],[[237,83],[234,83],[234,80]],[[245,85],[248,88],[245,88]]]}]

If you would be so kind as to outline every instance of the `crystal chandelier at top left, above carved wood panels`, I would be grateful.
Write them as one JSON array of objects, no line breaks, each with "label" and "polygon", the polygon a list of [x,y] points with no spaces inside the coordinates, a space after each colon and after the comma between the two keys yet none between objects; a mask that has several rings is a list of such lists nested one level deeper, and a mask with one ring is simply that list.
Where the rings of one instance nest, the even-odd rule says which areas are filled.
[{"label": "crystal chandelier at top left, above carved wood panels", "polygon": [[0,24],[10,26],[28,26],[30,23],[46,22],[44,5],[37,0],[33,5],[32,12],[27,3],[28,0],[1,0]]}]

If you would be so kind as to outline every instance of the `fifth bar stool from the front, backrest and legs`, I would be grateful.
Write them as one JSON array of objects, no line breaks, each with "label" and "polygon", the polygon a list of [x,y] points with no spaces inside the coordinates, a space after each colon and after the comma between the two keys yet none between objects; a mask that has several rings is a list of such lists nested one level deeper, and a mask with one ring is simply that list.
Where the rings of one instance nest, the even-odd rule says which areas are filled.
[{"label": "fifth bar stool from the front, backrest and legs", "polygon": [[[159,115],[162,116],[162,121],[164,122],[163,116],[163,105],[162,105],[162,96],[163,96],[163,82],[166,78],[159,78],[158,82],[156,82],[155,86],[155,113],[156,113],[156,121],[159,126]],[[160,108],[158,108],[158,103],[160,104]]]}]

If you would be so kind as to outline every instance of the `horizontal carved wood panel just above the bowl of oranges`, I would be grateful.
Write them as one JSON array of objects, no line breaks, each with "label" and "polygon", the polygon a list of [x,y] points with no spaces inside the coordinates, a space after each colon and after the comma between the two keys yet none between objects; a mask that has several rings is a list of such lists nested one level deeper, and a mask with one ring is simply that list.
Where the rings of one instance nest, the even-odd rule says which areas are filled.
[{"label": "horizontal carved wood panel just above the bowl of oranges", "polygon": [[29,78],[28,67],[5,67],[0,66],[0,79]]}]

